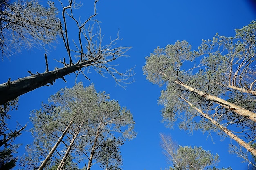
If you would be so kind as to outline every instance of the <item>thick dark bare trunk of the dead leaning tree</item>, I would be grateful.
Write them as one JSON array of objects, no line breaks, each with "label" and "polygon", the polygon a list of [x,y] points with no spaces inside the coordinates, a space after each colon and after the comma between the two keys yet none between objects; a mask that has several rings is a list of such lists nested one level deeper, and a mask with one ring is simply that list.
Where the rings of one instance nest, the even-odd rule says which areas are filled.
[{"label": "thick dark bare trunk of the dead leaning tree", "polygon": [[23,95],[36,88],[45,86],[48,83],[52,84],[52,82],[54,82],[56,79],[64,79],[63,77],[65,75],[74,73],[75,71],[85,66],[95,64],[96,60],[99,60],[99,58],[95,58],[86,62],[78,62],[74,65],[67,65],[63,68],[58,68],[53,71],[48,71],[48,64],[46,64],[47,69],[44,73],[38,73],[14,81],[10,81],[9,79],[6,83],[0,84],[0,105],[10,100],[16,99],[20,95]]}]

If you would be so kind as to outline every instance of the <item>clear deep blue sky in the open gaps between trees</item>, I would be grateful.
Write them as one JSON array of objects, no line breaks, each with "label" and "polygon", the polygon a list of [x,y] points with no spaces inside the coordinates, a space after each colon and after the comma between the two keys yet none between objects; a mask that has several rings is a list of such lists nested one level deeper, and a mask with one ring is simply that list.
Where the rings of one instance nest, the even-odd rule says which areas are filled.
[{"label": "clear deep blue sky in the open gaps between trees", "polygon": [[[40,1],[45,4],[45,2]],[[93,1],[83,2],[86,10],[80,13],[81,18],[91,13]],[[59,5],[56,1],[56,5]],[[126,71],[134,66],[135,82],[127,85],[126,90],[116,86],[115,81],[108,76],[104,78],[93,72],[87,76],[79,75],[78,81],[84,86],[95,84],[96,90],[106,91],[111,99],[118,100],[121,106],[126,106],[133,113],[136,125],[137,137],[126,142],[121,147],[124,170],[160,170],[168,166],[166,158],[162,155],[159,145],[159,134],[170,134],[173,140],[182,146],[202,146],[204,150],[220,155],[220,163],[217,167],[229,167],[233,170],[246,170],[247,163],[241,163],[243,159],[228,152],[229,139],[213,135],[213,141],[207,134],[196,131],[193,135],[177,126],[174,130],[165,128],[161,123],[162,106],[157,103],[160,91],[164,87],[158,87],[146,80],[142,66],[145,65],[145,57],[149,56],[157,46],[165,47],[174,44],[177,40],[187,40],[193,50],[200,46],[202,39],[211,39],[215,33],[224,36],[234,36],[236,28],[242,28],[256,18],[256,8],[249,0],[100,0],[97,4],[97,20],[101,21],[101,31],[104,41],[109,42],[110,36],[115,38],[118,29],[119,36],[123,39],[118,42],[120,46],[132,46],[126,54],[130,57],[120,58],[117,62],[119,68]],[[72,29],[72,25],[69,25]],[[72,31],[71,31],[72,32]],[[70,33],[72,36],[72,33]],[[76,35],[74,35],[76,36]],[[59,40],[55,49],[51,49],[48,55],[49,68],[61,67],[54,59],[67,57],[63,43]],[[0,83],[7,82],[10,77],[15,80],[28,76],[28,70],[32,73],[45,71],[43,50],[29,49],[21,54],[4,58],[0,62],[2,73]],[[18,155],[24,153],[26,144],[32,142],[29,129],[31,110],[39,109],[41,102],[47,102],[50,95],[60,88],[72,87],[75,83],[75,75],[65,77],[67,83],[59,79],[51,87],[41,87],[20,97],[18,111],[11,112],[9,126],[16,127],[16,121],[25,125],[27,131],[16,138],[20,146]],[[92,170],[99,168],[92,167]]]}]

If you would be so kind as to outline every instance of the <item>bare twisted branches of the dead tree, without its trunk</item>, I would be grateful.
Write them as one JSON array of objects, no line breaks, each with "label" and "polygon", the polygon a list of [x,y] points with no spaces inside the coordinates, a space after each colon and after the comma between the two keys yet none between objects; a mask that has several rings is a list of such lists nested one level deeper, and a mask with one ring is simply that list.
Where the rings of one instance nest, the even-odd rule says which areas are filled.
[{"label": "bare twisted branches of the dead tree, without its trunk", "polygon": [[[127,80],[129,77],[134,75],[134,73],[132,73],[133,68],[131,68],[130,70],[127,70],[126,73],[121,73],[121,72],[117,71],[117,68],[114,68],[112,65],[108,64],[109,62],[116,60],[117,58],[119,58],[121,56],[126,56],[126,55],[124,55],[124,53],[126,53],[126,51],[128,51],[130,49],[130,47],[114,47],[114,46],[116,46],[116,42],[121,40],[119,38],[119,31],[117,33],[116,39],[110,40],[110,43],[108,45],[105,45],[105,46],[101,45],[103,36],[101,36],[101,28],[99,25],[99,21],[93,19],[97,15],[96,4],[98,1],[99,0],[94,1],[94,13],[92,15],[90,15],[88,17],[88,19],[82,23],[81,23],[81,21],[74,18],[74,10],[72,10],[72,8],[74,6],[76,6],[75,4],[72,4],[72,3],[74,3],[74,1],[71,0],[68,6],[63,6],[63,4],[62,4],[64,32],[62,31],[61,33],[62,33],[64,44],[65,44],[67,52],[68,52],[69,60],[70,61],[72,60],[71,52],[74,53],[74,56],[79,57],[81,62],[94,60],[95,62],[93,62],[93,64],[91,64],[91,66],[94,68],[94,70],[97,73],[101,74],[103,77],[105,77],[104,74],[106,74],[106,73],[110,74],[114,78],[115,82],[120,86],[122,86],[121,84],[123,84],[123,83],[130,84],[130,83],[134,82],[134,80],[131,82],[127,82]],[[79,7],[81,7],[81,4],[79,4]],[[70,11],[68,12],[67,9],[70,9]],[[65,15],[70,17],[76,23],[76,27],[78,28],[78,43],[76,43],[76,41],[73,39],[75,49],[72,49],[70,47],[70,44],[68,41],[69,37],[67,35],[68,29],[67,29]],[[89,22],[94,22],[94,23],[92,25],[89,25],[88,29],[85,29],[85,26]],[[98,23],[98,26],[96,29],[96,33],[93,33],[95,23]],[[83,40],[85,40],[85,41],[83,41]],[[87,48],[86,53],[84,52],[83,46],[86,46],[86,48]],[[61,61],[59,61],[59,62],[61,62]],[[64,60],[64,62],[61,62],[61,63],[65,64],[65,60]],[[70,62],[70,64],[73,64],[73,62]],[[82,67],[83,67],[83,65],[81,65],[81,68]],[[116,67],[116,65],[115,65],[115,67]],[[89,72],[89,70],[90,70],[90,66],[87,67],[87,73]],[[105,70],[105,71],[103,71],[103,70]],[[80,69],[80,71],[79,71],[79,73],[82,73],[85,76],[85,73],[84,73],[85,69],[83,69],[83,71]],[[87,79],[89,79],[87,76],[85,76],[85,77]]]}]

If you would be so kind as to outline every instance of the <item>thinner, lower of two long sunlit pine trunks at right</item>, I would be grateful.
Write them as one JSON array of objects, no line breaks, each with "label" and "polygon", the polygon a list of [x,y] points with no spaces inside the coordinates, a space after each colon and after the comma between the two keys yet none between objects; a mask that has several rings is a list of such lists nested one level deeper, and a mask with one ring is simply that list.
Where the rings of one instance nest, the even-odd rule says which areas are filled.
[{"label": "thinner, lower of two long sunlit pine trunks at right", "polygon": [[240,144],[241,146],[243,146],[245,149],[247,149],[249,152],[251,152],[253,155],[256,156],[256,149],[252,148],[252,146],[250,146],[249,144],[247,144],[245,141],[243,141],[242,139],[240,139],[239,137],[237,137],[235,134],[233,134],[230,130],[228,130],[227,128],[225,128],[224,126],[222,126],[221,124],[219,124],[216,120],[212,119],[209,115],[205,114],[202,110],[200,110],[199,108],[195,107],[193,104],[191,104],[189,101],[187,101],[186,99],[184,99],[183,97],[181,97],[186,103],[189,104],[189,106],[193,107],[195,110],[198,111],[198,113],[200,113],[204,118],[208,119],[209,121],[211,121],[212,124],[214,124],[215,126],[217,126],[218,128],[220,128],[220,130],[222,130],[223,132],[225,132],[227,135],[229,135],[229,137],[231,137],[231,139],[234,139],[238,144]]}]

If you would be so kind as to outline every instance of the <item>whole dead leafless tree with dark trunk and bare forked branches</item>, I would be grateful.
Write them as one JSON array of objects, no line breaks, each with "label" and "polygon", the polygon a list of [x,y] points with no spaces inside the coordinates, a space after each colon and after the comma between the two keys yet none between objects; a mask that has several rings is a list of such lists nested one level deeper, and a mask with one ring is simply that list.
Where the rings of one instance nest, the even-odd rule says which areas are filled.
[{"label": "whole dead leafless tree with dark trunk and bare forked branches", "polygon": [[[128,78],[134,75],[132,68],[125,73],[121,73],[121,71],[117,70],[117,65],[110,64],[110,62],[117,60],[119,57],[127,57],[125,53],[131,47],[116,46],[117,41],[121,40],[118,33],[115,40],[110,40],[109,44],[103,46],[101,44],[103,36],[101,36],[101,29],[99,25],[95,31],[96,33],[94,33],[94,24],[89,25],[88,29],[85,29],[85,26],[87,26],[90,21],[99,23],[97,20],[93,19],[93,17],[96,16],[96,3],[98,1],[99,0],[94,1],[94,13],[90,15],[89,18],[81,24],[81,26],[79,26],[78,20],[74,18],[74,11],[79,10],[75,8],[75,2],[70,0],[67,6],[62,5],[63,24],[58,22],[58,28],[61,29],[58,31],[61,32],[61,36],[67,50],[69,63],[65,62],[64,57],[63,62],[59,61],[64,64],[62,68],[55,67],[54,70],[49,71],[48,60],[45,55],[46,71],[44,73],[37,72],[36,74],[33,74],[30,72],[31,76],[14,81],[10,81],[9,79],[7,83],[0,84],[0,104],[15,99],[16,97],[41,86],[49,86],[49,84],[52,85],[56,79],[61,78],[65,81],[64,76],[74,73],[75,71],[79,71],[79,73],[82,73],[86,78],[88,78],[85,71],[89,71],[91,66],[93,66],[97,73],[103,76],[105,73],[110,74],[114,78],[115,82],[120,86],[122,83],[129,84],[133,82],[133,80],[131,82],[127,82]],[[81,7],[81,5],[79,5],[79,7]],[[79,11],[77,11],[77,13],[79,13]],[[67,20],[66,17],[70,17],[71,22],[70,20]],[[67,21],[69,23],[67,23]],[[68,34],[69,31],[74,32],[74,30],[76,30],[74,29],[72,21],[75,22],[78,27],[79,39],[75,39],[76,37],[70,37],[71,34]],[[73,26],[71,30],[68,29],[69,24]],[[62,25],[64,26],[64,30],[62,30]],[[70,39],[73,40],[74,46],[70,44]],[[76,43],[77,41],[78,43]],[[87,49],[86,53],[83,52],[84,46]]]}]

